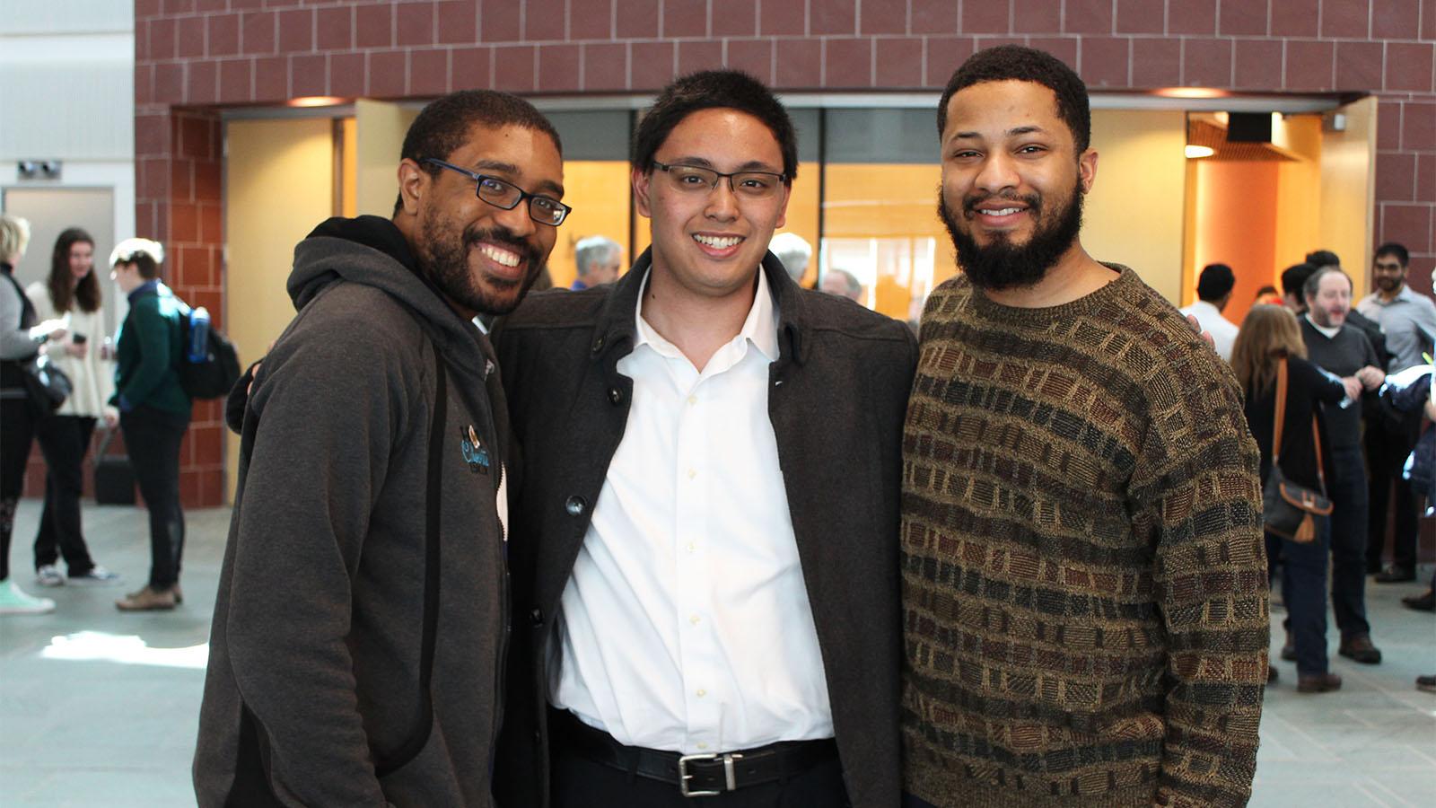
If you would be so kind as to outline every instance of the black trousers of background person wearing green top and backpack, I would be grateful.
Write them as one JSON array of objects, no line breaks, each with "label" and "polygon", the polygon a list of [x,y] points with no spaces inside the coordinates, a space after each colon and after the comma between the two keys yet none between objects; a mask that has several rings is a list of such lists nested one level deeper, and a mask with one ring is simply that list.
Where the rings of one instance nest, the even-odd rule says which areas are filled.
[{"label": "black trousers of background person wearing green top and backpack", "polygon": [[184,512],[180,509],[180,443],[190,416],[154,407],[121,413],[125,449],[149,509],[149,588],[165,592],[180,581]]}]

